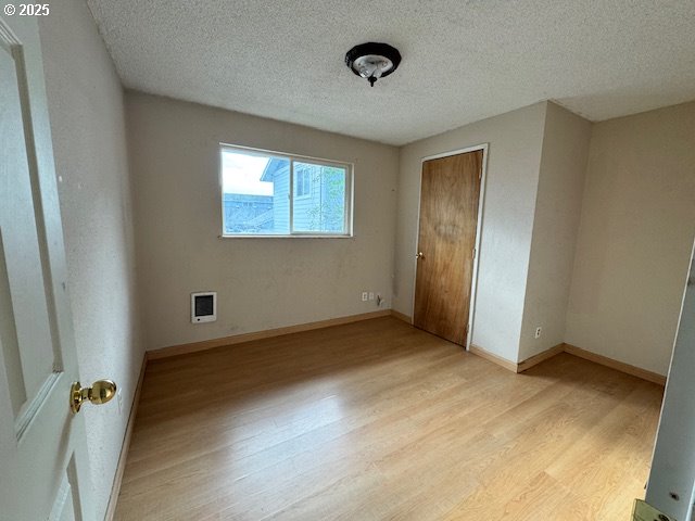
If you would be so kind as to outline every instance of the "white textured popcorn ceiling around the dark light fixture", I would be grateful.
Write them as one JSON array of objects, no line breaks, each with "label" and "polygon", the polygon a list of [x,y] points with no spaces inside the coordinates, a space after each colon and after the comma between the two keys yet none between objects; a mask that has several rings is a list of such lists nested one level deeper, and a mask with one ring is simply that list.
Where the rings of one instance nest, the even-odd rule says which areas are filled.
[{"label": "white textured popcorn ceiling around the dark light fixture", "polygon": [[[693,0],[88,0],[126,87],[392,144],[553,99],[695,99]],[[370,88],[345,52],[384,41]]]}]

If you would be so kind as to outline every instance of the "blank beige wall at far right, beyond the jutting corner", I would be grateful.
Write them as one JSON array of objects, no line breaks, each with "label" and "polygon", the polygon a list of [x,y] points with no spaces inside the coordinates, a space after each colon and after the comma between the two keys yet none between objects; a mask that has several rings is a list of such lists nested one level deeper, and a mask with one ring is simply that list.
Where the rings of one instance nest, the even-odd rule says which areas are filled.
[{"label": "blank beige wall at far right, beyond the jutting corner", "polygon": [[666,374],[695,234],[695,103],[593,127],[567,342]]}]

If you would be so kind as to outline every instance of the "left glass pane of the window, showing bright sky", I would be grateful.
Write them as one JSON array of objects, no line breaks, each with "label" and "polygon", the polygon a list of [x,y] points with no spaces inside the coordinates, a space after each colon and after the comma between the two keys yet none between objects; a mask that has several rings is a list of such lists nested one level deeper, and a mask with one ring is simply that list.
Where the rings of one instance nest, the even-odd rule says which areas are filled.
[{"label": "left glass pane of the window, showing bright sky", "polygon": [[225,234],[290,232],[290,160],[222,150]]}]

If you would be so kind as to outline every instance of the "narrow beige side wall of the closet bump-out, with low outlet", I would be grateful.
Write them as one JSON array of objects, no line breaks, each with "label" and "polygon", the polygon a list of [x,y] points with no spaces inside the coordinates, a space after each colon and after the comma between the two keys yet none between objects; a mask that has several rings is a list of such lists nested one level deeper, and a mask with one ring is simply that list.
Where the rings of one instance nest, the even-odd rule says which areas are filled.
[{"label": "narrow beige side wall of the closet bump-out, with low outlet", "polygon": [[547,104],[518,361],[565,342],[590,138],[591,123]]}]

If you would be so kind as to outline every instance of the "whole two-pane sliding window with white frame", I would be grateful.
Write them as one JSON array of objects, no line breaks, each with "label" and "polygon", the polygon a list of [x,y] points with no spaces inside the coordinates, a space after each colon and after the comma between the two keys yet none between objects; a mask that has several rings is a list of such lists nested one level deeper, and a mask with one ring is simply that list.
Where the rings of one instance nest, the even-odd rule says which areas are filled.
[{"label": "whole two-pane sliding window with white frame", "polygon": [[222,145],[220,170],[223,237],[352,236],[351,165]]}]

